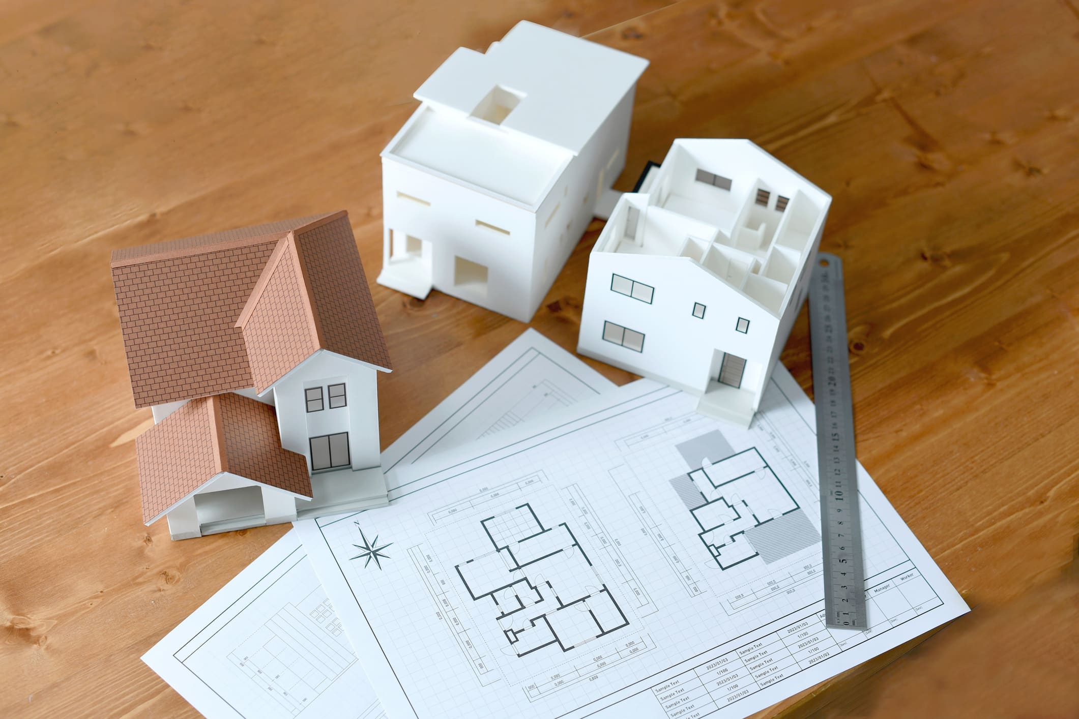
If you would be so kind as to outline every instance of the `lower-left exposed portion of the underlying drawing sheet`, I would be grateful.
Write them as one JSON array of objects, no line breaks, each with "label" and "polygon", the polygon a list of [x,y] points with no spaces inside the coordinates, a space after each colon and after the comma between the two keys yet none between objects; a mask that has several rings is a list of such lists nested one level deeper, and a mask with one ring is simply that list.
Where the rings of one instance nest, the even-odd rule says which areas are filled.
[{"label": "lower-left exposed portion of the underlying drawing sheet", "polygon": [[142,661],[207,717],[385,716],[295,529]]}]

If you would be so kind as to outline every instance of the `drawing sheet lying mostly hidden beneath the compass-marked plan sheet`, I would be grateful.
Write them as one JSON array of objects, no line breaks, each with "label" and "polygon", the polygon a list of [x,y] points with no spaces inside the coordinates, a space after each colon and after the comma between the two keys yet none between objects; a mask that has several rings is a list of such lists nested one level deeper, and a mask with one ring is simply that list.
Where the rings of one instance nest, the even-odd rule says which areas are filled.
[{"label": "drawing sheet lying mostly hidden beneath the compass-marked plan sheet", "polygon": [[[613,388],[528,330],[387,447],[383,467],[407,467]],[[142,660],[208,717],[385,716],[295,530]]]}]

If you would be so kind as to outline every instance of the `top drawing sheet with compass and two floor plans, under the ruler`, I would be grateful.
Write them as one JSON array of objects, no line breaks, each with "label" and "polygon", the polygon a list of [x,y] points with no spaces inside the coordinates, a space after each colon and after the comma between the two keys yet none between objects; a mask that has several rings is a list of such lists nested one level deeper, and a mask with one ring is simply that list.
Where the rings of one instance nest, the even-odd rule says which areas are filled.
[{"label": "top drawing sheet with compass and two floor plans, under the ruler", "polygon": [[388,716],[741,717],[967,611],[859,467],[870,628],[827,628],[812,404],[781,367],[749,429],[696,402],[632,383],[297,524]]}]

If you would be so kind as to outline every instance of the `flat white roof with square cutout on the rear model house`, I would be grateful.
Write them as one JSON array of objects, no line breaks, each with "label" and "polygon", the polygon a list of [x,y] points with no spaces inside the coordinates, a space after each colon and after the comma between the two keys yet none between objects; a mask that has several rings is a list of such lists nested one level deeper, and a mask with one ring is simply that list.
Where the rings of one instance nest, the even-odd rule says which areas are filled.
[{"label": "flat white roof with square cutout on the rear model house", "polygon": [[578,154],[648,61],[535,23],[518,23],[487,53],[460,47],[415,98],[472,113],[497,85],[521,97],[500,127]]}]

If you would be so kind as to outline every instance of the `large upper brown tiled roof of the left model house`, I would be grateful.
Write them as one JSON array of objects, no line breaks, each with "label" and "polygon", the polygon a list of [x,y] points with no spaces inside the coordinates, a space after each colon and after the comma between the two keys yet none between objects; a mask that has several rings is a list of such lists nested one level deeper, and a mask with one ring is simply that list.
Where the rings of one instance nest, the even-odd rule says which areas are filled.
[{"label": "large upper brown tiled roof of the left model house", "polygon": [[298,265],[303,282],[282,291],[313,303],[306,321],[328,337],[319,346],[390,370],[347,212],[316,215],[112,253],[135,406],[252,387],[252,365],[274,374],[281,356],[295,357],[273,333],[249,343],[236,324],[288,243],[308,248]]}]

